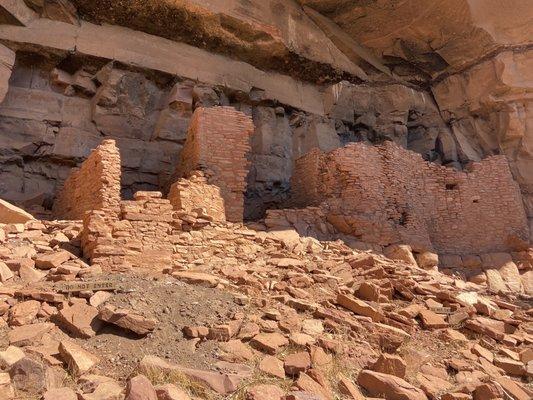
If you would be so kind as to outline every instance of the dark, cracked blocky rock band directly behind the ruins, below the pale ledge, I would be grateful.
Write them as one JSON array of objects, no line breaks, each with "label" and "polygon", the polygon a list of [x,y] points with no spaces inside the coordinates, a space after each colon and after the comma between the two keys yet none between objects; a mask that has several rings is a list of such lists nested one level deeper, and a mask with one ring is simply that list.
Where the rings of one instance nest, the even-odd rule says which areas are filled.
[{"label": "dark, cracked blocky rock band directly behind the ruins, below the pale ledge", "polygon": [[[253,117],[245,207],[246,218],[253,219],[287,198],[294,159],[314,147],[329,151],[351,141],[389,138],[432,157],[436,138],[447,134],[429,97],[401,85],[349,86],[349,100],[332,104],[328,115],[316,115],[275,106],[261,91],[235,94],[95,60],[73,64],[67,68],[36,54],[20,55],[0,104],[6,139],[0,145],[0,195],[25,208],[49,207],[70,168],[102,137],[115,139],[120,149],[125,197],[160,190],[199,106],[232,105]],[[343,107],[352,109],[351,119]]]}]

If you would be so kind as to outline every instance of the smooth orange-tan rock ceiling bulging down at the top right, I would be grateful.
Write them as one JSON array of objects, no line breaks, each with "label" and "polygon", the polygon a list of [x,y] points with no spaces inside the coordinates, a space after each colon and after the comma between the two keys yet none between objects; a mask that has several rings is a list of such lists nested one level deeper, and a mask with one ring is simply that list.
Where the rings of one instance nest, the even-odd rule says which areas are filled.
[{"label": "smooth orange-tan rock ceiling bulging down at the top right", "polygon": [[400,75],[435,77],[531,42],[533,11],[521,0],[299,2],[331,18]]}]

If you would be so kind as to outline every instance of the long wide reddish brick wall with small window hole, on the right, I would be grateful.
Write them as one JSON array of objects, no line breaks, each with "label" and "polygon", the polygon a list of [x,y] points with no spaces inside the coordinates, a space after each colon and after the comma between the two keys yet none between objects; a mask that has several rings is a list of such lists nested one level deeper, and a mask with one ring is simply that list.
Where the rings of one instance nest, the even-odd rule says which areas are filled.
[{"label": "long wide reddish brick wall with small window hole, on the right", "polygon": [[296,161],[292,203],[320,205],[340,232],[440,253],[508,251],[529,237],[518,185],[503,156],[459,172],[392,142],[312,151]]}]

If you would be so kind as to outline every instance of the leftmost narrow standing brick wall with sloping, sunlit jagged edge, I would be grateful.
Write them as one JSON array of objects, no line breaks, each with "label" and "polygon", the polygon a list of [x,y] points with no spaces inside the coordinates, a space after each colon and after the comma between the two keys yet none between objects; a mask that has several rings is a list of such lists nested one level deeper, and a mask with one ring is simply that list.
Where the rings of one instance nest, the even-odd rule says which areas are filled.
[{"label": "leftmost narrow standing brick wall with sloping, sunlit jagged edge", "polygon": [[120,154],[114,140],[104,140],[59,190],[53,207],[57,219],[82,219],[87,211],[116,214],[120,207]]}]

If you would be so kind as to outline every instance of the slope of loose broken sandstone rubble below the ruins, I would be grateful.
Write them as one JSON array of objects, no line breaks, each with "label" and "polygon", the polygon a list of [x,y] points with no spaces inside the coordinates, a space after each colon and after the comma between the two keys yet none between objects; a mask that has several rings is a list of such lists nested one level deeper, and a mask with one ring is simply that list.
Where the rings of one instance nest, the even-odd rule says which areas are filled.
[{"label": "slope of loose broken sandstone rubble below the ruins", "polygon": [[[81,231],[0,225],[2,399],[531,398],[531,298],[421,268],[408,246],[387,258],[210,221],[177,234],[177,261],[146,265],[160,286],[135,293],[140,271],[88,265]],[[178,314],[165,288],[188,291]],[[203,364],[166,350],[181,345]]]}]

